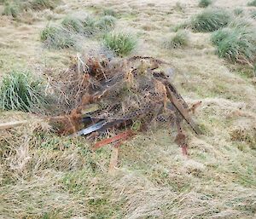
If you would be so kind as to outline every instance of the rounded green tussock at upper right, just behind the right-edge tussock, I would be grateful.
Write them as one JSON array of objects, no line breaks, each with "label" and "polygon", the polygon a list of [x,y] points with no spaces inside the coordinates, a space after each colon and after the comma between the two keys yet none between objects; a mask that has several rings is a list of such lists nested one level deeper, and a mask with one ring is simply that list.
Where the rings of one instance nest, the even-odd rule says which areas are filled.
[{"label": "rounded green tussock at upper right, just behind the right-edge tussock", "polygon": [[191,20],[194,32],[214,32],[227,26],[231,20],[230,13],[224,9],[205,9]]}]

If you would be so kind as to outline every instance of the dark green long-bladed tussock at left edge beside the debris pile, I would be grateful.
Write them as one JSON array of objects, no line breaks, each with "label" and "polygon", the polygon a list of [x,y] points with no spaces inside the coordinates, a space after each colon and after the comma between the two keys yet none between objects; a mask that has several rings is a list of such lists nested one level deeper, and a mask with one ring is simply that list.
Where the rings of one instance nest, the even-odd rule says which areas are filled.
[{"label": "dark green long-bladed tussock at left edge beside the debris pile", "polygon": [[0,86],[0,107],[3,110],[35,111],[44,107],[46,97],[41,82],[29,72],[10,72]]}]

